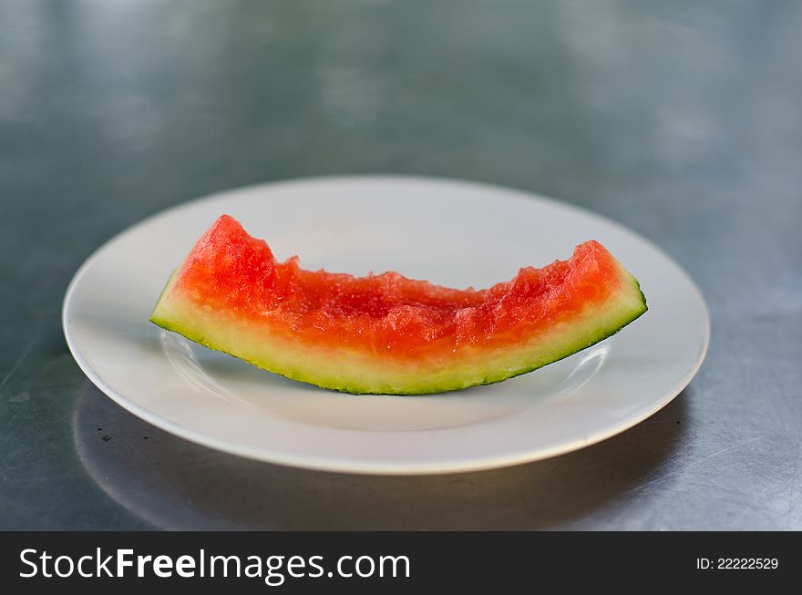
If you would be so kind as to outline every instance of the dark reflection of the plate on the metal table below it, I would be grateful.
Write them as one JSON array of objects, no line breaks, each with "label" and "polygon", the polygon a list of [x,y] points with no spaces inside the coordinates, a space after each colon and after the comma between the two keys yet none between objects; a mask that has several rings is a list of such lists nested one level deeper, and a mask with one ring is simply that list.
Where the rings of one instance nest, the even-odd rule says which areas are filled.
[{"label": "dark reflection of the plate on the metal table below it", "polygon": [[592,528],[594,515],[638,489],[673,498],[666,490],[686,440],[686,400],[568,455],[448,476],[354,476],[233,457],[149,426],[89,382],[72,434],[89,477],[159,528]]}]

